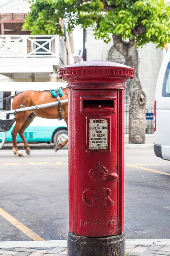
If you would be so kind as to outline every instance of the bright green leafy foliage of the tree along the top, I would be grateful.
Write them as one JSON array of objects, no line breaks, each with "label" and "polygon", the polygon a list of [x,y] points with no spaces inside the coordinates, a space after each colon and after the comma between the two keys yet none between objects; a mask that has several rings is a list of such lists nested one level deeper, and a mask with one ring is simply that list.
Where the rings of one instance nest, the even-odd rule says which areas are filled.
[{"label": "bright green leafy foliage of the tree along the top", "polygon": [[93,26],[96,38],[106,43],[112,35],[133,40],[136,47],[170,42],[170,5],[164,0],[29,0],[31,12],[23,29],[32,34],[62,35],[59,18],[75,26]]}]

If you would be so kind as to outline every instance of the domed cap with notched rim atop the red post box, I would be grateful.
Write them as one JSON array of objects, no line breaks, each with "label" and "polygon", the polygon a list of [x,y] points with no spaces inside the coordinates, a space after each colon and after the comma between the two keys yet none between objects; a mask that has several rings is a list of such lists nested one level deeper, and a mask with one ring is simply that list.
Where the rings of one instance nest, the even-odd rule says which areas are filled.
[{"label": "domed cap with notched rim atop the red post box", "polygon": [[132,79],[135,69],[126,65],[111,61],[83,61],[60,67],[58,70],[59,78],[71,84],[77,84],[80,79],[83,81],[106,81],[124,83]]}]

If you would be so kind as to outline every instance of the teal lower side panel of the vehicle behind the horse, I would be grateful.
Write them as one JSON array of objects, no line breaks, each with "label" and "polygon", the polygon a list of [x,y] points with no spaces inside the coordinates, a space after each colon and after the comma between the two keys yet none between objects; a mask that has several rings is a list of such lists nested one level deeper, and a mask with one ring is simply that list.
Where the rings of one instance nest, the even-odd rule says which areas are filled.
[{"label": "teal lower side panel of the vehicle behind the horse", "polygon": [[[67,128],[67,126],[62,126]],[[55,130],[61,129],[61,126],[28,126],[24,131],[24,136],[28,142],[49,142]],[[12,142],[11,132],[14,126],[9,131],[6,131],[6,142]],[[17,142],[22,142],[20,135],[17,134]]]}]

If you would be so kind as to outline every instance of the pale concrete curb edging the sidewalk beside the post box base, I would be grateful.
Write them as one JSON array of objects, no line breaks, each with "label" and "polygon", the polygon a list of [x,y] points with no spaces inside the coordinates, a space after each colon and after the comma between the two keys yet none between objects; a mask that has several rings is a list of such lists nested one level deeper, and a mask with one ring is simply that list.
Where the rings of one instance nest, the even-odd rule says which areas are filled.
[{"label": "pale concrete curb edging the sidewalk beside the post box base", "polygon": [[[170,245],[170,239],[126,239],[126,245]],[[67,247],[67,240],[1,241],[0,248],[12,247]]]}]

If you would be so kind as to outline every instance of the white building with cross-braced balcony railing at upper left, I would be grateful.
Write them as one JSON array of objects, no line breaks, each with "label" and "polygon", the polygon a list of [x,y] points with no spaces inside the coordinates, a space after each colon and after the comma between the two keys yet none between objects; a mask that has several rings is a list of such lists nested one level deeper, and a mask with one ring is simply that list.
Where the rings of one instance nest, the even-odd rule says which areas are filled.
[{"label": "white building with cross-braced balcony railing at upper left", "polygon": [[72,34],[65,32],[65,37],[60,37],[23,32],[28,2],[6,1],[0,1],[0,74],[4,81],[57,81],[57,69],[74,63]]}]

